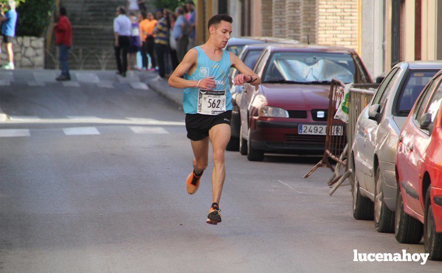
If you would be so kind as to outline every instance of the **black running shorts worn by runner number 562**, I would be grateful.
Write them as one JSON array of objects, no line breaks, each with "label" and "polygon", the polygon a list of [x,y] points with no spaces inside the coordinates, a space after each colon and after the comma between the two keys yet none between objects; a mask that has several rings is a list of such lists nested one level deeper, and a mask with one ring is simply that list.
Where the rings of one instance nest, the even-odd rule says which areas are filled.
[{"label": "black running shorts worn by runner number 562", "polygon": [[186,114],[187,138],[198,141],[209,136],[209,130],[218,124],[230,125],[232,111],[219,115]]}]

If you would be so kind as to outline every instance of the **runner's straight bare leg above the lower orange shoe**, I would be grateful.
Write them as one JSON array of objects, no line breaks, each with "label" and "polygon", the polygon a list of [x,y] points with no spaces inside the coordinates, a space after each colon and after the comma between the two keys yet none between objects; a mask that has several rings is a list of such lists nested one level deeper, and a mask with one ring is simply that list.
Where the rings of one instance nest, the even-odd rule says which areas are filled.
[{"label": "runner's straight bare leg above the lower orange shoe", "polygon": [[214,150],[214,171],[212,172],[213,203],[220,204],[222,186],[225,178],[224,152],[230,140],[230,126],[218,124],[209,131]]}]

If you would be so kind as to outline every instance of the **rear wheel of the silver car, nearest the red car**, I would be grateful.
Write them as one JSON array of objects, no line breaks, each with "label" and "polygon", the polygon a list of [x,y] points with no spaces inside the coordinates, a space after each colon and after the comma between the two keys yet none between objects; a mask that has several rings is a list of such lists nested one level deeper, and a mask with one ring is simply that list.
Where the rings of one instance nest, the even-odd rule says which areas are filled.
[{"label": "rear wheel of the silver car, nearest the red car", "polygon": [[374,227],[377,232],[394,232],[394,212],[384,203],[380,168],[377,167],[374,181]]}]

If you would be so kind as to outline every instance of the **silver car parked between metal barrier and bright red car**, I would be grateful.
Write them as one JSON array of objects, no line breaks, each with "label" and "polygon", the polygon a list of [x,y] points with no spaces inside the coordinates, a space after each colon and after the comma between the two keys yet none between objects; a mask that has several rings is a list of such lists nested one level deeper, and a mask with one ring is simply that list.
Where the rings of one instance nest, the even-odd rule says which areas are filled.
[{"label": "silver car parked between metal barrier and bright red car", "polygon": [[353,216],[374,218],[378,232],[394,232],[398,136],[422,89],[441,68],[442,62],[397,64],[358,118],[352,147]]}]

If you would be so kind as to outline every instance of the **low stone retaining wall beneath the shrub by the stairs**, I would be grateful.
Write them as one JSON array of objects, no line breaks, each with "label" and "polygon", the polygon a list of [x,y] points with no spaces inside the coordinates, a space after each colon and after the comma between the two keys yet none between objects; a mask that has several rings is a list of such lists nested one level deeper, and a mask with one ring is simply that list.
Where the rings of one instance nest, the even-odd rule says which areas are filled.
[{"label": "low stone retaining wall beneath the shrub by the stairs", "polygon": [[[15,68],[44,68],[44,38],[15,37],[12,43]],[[5,44],[1,45],[1,65],[7,63]]]}]

